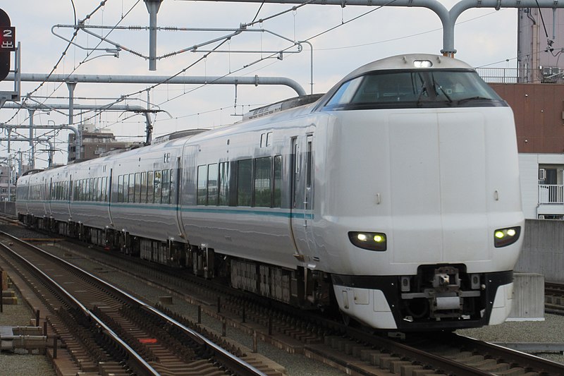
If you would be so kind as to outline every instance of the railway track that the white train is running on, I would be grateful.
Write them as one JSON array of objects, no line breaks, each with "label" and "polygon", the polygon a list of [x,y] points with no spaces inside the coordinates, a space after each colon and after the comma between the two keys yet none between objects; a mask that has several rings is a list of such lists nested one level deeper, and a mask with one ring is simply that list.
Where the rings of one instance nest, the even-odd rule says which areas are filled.
[{"label": "railway track that the white train is running on", "polygon": [[[233,294],[218,287],[209,288],[201,279],[185,272],[147,265],[131,257],[77,247],[67,242],[51,243],[59,253],[73,252],[77,258],[90,258],[102,268],[117,268],[137,279],[161,286],[174,298],[185,298],[202,307],[218,325],[234,327],[258,337],[288,353],[331,365],[348,375],[563,375],[564,365],[454,334],[407,336],[391,339],[369,333],[319,315],[281,310],[246,294]],[[140,262],[137,262],[140,261]],[[101,269],[98,267],[98,269]],[[139,277],[142,276],[142,277]],[[160,307],[178,322],[190,320],[175,305]]]}]

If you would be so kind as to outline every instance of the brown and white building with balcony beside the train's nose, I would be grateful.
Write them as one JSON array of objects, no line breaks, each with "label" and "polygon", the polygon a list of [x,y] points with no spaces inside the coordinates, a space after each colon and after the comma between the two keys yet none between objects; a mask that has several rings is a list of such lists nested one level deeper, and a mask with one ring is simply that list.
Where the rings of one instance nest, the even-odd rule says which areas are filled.
[{"label": "brown and white building with balcony beside the train's nose", "polygon": [[523,212],[564,219],[564,84],[490,84],[515,114]]}]

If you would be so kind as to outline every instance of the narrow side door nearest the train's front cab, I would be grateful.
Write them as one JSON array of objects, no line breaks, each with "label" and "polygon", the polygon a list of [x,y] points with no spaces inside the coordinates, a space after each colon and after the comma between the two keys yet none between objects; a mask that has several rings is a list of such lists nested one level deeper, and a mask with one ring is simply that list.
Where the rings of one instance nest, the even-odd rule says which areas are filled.
[{"label": "narrow side door nearest the train's front cab", "polygon": [[314,250],[313,220],[313,134],[292,139],[292,198],[290,219],[298,253]]}]

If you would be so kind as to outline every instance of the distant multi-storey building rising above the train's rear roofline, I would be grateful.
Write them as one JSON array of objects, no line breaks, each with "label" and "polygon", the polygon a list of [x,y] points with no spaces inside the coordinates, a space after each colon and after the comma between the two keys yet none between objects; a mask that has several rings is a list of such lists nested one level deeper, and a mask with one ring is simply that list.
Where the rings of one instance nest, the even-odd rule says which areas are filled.
[{"label": "distant multi-storey building rising above the train's rear roofline", "polygon": [[82,161],[100,157],[113,150],[129,149],[142,146],[142,142],[120,142],[114,133],[102,133],[92,129],[92,126],[79,126],[81,135],[80,152],[77,151],[75,133],[68,135],[68,162]]}]

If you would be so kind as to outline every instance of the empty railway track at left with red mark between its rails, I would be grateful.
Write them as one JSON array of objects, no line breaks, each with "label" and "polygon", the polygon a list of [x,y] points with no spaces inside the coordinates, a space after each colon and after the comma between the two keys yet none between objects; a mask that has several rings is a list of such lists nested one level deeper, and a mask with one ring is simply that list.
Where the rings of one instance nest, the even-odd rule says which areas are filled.
[{"label": "empty railway track at left with red mark between its rails", "polygon": [[[80,372],[102,375],[266,375],[190,327],[18,238],[1,257],[41,296],[50,332]],[[237,351],[235,351],[237,352]]]}]

